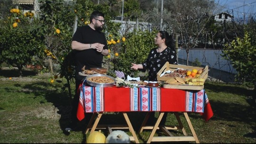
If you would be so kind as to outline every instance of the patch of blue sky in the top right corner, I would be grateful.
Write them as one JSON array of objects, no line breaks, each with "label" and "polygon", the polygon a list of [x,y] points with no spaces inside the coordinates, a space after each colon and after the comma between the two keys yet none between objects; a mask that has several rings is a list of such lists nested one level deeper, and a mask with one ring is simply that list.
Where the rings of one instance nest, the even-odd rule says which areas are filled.
[{"label": "patch of blue sky in the top right corner", "polygon": [[220,12],[228,10],[235,19],[243,18],[244,14],[245,17],[251,14],[256,18],[256,0],[215,0],[215,3],[221,8]]}]

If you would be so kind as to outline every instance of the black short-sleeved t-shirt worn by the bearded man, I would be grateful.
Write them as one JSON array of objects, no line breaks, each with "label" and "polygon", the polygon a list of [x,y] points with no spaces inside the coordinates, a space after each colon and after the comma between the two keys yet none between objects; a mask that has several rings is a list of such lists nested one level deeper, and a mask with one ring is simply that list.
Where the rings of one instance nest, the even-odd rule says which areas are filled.
[{"label": "black short-sleeved t-shirt worn by the bearded man", "polygon": [[[73,36],[72,41],[77,41],[85,44],[93,44],[99,42],[104,44],[104,49],[108,49],[104,33],[93,30],[89,25],[78,27]],[[74,59],[76,63],[76,77],[80,77],[78,72],[89,68],[101,68],[103,55],[95,49],[88,49],[83,51],[75,51]]]}]

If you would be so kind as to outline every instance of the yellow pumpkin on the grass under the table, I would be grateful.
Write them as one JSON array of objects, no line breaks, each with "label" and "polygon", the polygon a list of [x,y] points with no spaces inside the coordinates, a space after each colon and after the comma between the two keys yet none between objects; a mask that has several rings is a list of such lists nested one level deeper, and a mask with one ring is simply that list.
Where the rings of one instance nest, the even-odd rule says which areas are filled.
[{"label": "yellow pumpkin on the grass under the table", "polygon": [[105,140],[106,136],[103,133],[94,131],[87,137],[86,144],[104,144]]}]

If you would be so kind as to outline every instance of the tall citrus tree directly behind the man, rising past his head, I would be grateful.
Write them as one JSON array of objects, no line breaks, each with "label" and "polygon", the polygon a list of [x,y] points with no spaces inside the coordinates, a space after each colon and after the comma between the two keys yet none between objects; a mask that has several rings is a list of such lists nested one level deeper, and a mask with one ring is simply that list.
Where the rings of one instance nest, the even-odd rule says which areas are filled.
[{"label": "tall citrus tree directly behind the man, rising past his head", "polygon": [[[38,18],[41,20],[41,33],[45,36],[45,53],[49,60],[57,63],[60,68],[54,75],[66,78],[67,83],[63,89],[68,89],[71,95],[70,84],[74,81],[74,57],[71,50],[71,41],[76,26],[88,25],[90,14],[94,10],[100,10],[105,14],[104,33],[111,33],[116,28],[110,21],[107,5],[95,5],[90,0],[80,3],[63,0],[39,0],[40,12]],[[77,17],[77,23],[75,19]]]}]

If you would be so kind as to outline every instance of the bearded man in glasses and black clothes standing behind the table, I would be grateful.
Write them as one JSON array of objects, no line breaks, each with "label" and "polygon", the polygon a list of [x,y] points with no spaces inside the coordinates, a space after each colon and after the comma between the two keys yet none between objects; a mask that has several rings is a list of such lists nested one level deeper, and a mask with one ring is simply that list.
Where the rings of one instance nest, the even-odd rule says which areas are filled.
[{"label": "bearded man in glasses and black clothes standing behind the table", "polygon": [[[106,37],[103,32],[104,14],[100,11],[94,11],[90,15],[90,24],[77,28],[76,33],[72,38],[71,47],[73,57],[76,64],[75,80],[76,91],[81,81],[85,76],[80,76],[78,73],[82,68],[102,68],[103,56],[108,55],[108,47]],[[76,112],[79,102],[79,95],[75,94],[71,111],[71,123],[66,131],[76,130],[78,119]],[[88,123],[93,113],[87,113],[85,122]]]}]

